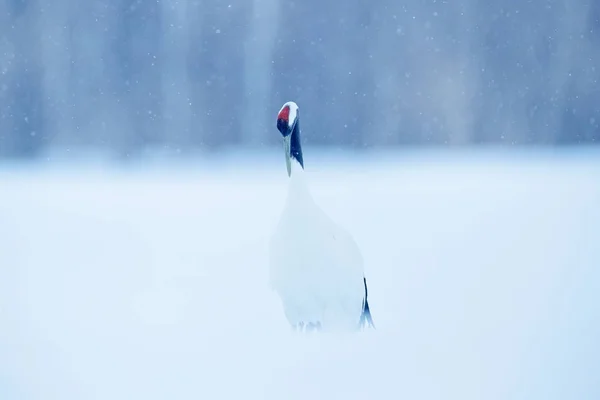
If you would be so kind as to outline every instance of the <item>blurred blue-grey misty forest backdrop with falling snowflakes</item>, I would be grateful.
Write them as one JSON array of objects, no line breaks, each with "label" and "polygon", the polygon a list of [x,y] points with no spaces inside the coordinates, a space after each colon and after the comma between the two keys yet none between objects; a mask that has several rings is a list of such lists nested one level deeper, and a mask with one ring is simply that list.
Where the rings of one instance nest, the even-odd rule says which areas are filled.
[{"label": "blurred blue-grey misty forest backdrop with falling snowflakes", "polygon": [[0,156],[600,140],[600,3],[4,0]]}]

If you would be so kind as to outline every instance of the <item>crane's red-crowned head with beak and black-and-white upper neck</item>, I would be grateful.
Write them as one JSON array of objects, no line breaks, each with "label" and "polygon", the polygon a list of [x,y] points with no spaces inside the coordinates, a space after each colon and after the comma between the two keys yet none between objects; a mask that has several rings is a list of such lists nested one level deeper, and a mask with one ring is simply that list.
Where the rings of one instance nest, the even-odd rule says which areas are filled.
[{"label": "crane's red-crowned head with beak and black-and-white upper neck", "polygon": [[277,129],[283,136],[283,148],[288,176],[291,175],[291,163],[296,161],[304,169],[302,145],[300,143],[300,115],[298,105],[288,101],[277,114]]}]

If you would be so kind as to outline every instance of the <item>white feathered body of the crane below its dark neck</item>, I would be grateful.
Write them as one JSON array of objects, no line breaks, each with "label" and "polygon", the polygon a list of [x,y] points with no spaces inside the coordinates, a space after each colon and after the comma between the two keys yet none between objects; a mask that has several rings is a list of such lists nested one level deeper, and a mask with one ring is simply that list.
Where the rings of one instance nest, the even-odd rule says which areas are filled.
[{"label": "white feathered body of the crane below its dark neck", "polygon": [[354,329],[362,312],[363,276],[352,236],[321,210],[302,182],[292,180],[270,247],[271,284],[290,324]]}]

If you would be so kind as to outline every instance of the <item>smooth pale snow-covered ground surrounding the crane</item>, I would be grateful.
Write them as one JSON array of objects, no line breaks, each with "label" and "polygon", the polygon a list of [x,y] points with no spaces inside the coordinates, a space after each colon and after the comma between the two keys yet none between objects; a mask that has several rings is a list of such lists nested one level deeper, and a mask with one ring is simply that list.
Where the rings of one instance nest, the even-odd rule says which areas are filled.
[{"label": "smooth pale snow-covered ground surrounding the crane", "polygon": [[0,399],[600,397],[600,153],[306,158],[377,331],[289,332],[283,156],[0,167]]}]

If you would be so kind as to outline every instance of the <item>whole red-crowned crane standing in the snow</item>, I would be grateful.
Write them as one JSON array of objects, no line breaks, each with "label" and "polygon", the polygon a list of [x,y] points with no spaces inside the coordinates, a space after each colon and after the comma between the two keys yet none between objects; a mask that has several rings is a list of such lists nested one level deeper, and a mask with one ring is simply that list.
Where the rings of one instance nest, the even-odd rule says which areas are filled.
[{"label": "whole red-crowned crane standing in the snow", "polygon": [[308,188],[295,102],[281,107],[277,129],[283,137],[289,183],[270,239],[269,280],[285,317],[300,332],[374,329],[361,251]]}]

